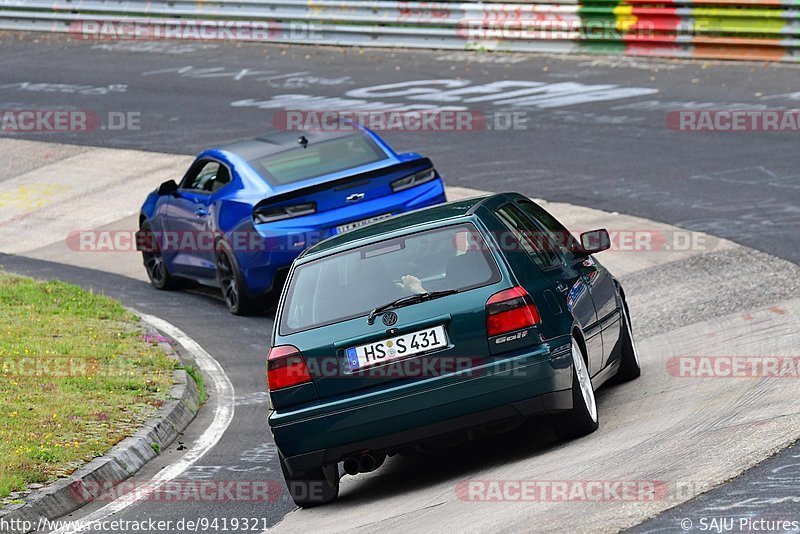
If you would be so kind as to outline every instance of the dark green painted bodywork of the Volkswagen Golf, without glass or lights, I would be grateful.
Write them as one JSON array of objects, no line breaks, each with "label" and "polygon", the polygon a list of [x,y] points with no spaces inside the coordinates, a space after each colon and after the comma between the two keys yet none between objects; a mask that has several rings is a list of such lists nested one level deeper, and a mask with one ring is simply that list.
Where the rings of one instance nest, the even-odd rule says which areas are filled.
[{"label": "dark green painted bodywork of the Volkswagen Golf, without glass or lights", "polygon": [[[279,304],[273,346],[297,347],[309,369],[338,370],[322,375],[312,372],[313,382],[271,392],[273,411],[269,424],[287,465],[309,469],[341,461],[364,449],[389,452],[429,439],[431,433],[435,435],[456,424],[469,426],[542,413],[556,398],[562,404],[553,404],[548,410],[569,409],[571,400],[565,406],[563,399],[571,399],[569,344],[576,328],[585,338],[588,366],[596,386],[613,376],[610,371],[616,369],[621,339],[621,300],[616,280],[585,255],[554,253],[553,257],[561,257],[563,263],[541,269],[517,241],[517,246],[499,244],[507,235],[516,237],[503,226],[496,215],[498,210],[520,210],[523,205],[541,210],[513,193],[434,206],[330,238],[295,260]],[[392,326],[396,331],[390,332],[380,319],[369,325],[366,316],[360,316],[281,334],[281,310],[298,265],[369,243],[454,224],[474,225],[484,239],[495,243],[488,248],[500,273],[497,281],[398,308],[394,310],[397,323]],[[587,284],[592,285],[591,291],[586,289]],[[489,338],[487,301],[518,285],[530,295],[541,323],[518,331],[525,332],[519,338]],[[369,291],[369,287],[363,290]],[[448,347],[382,367],[396,365],[402,372],[407,369],[403,362],[463,362],[465,358],[473,359],[472,367],[439,376],[411,377],[391,371],[380,377],[344,371],[348,347],[436,325],[445,327]]]}]

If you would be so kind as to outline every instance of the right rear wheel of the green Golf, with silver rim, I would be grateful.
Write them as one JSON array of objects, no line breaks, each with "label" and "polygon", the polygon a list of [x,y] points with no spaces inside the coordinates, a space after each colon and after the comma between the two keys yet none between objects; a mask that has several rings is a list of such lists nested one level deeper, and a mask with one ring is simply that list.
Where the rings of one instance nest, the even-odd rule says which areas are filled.
[{"label": "right rear wheel of the green Golf, with silver rim", "polygon": [[[555,431],[561,439],[591,434],[600,426],[594,388],[580,343],[572,337],[572,409],[557,415]],[[588,381],[588,382],[587,382]],[[588,390],[586,389],[588,387]]]}]

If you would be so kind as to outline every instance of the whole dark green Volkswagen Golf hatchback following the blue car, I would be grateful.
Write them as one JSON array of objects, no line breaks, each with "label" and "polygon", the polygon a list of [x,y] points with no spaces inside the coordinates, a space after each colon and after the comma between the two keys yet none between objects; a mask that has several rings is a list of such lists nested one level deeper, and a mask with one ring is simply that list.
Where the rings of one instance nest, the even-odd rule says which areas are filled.
[{"label": "whole dark green Volkswagen Golf hatchback following the blue car", "polygon": [[340,469],[552,414],[598,426],[594,391],[639,376],[619,282],[516,193],[441,204],[331,237],[295,260],[267,358],[269,425],[295,503]]}]

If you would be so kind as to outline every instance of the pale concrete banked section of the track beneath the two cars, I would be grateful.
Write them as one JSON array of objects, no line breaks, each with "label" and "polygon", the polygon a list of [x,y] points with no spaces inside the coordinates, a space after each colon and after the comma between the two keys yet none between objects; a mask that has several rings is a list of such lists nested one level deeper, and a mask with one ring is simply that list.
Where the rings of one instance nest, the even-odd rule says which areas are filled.
[{"label": "pale concrete banked section of the track beneath the two cars", "polygon": [[[29,191],[41,190],[42,184],[59,188],[48,189],[27,206],[18,201],[13,213],[4,207],[0,251],[145,280],[140,256],[133,251],[78,252],[64,240],[75,230],[135,230],[145,194],[164,180],[179,178],[191,158],[3,139],[0,163],[29,150],[59,154],[57,170],[45,162],[40,168],[17,163],[21,174],[6,184]],[[485,193],[448,188],[451,199]],[[508,438],[501,436],[488,447],[479,442],[429,457],[394,457],[374,473],[344,477],[337,502],[294,511],[277,525],[277,532],[526,531],[531,525],[537,530],[613,532],[718,486],[797,439],[796,377],[676,376],[674,362],[689,356],[796,355],[793,336],[800,325],[800,300],[779,298],[772,288],[781,281],[784,295],[798,294],[800,268],[730,241],[643,218],[542,204],[570,229],[632,231],[634,242],[636,232],[688,235],[694,243],[641,250],[621,246],[597,257],[626,288],[634,334],[646,333],[637,338],[642,377],[598,392],[600,428],[588,437],[558,442],[546,434],[516,433],[515,443],[504,443]],[[734,262],[743,258],[756,261]],[[709,261],[719,265],[726,259],[729,268],[711,272]],[[697,280],[704,282],[701,287],[692,283]],[[732,296],[739,291],[752,299],[736,302]],[[759,300],[760,294],[775,299]],[[726,307],[728,301],[731,307]],[[265,333],[268,327],[263,325]],[[253,373],[263,369],[263,361],[238,365],[252,367]],[[265,421],[251,427],[254,433],[267,433]],[[224,436],[220,443],[231,451],[237,448]],[[492,454],[482,454],[485,450]],[[560,481],[571,487],[589,481],[655,482],[664,491],[641,499],[520,502],[509,497],[481,502],[488,491],[485,484],[476,489],[475,499],[458,490],[470,481]],[[135,514],[136,508],[124,513]]]}]

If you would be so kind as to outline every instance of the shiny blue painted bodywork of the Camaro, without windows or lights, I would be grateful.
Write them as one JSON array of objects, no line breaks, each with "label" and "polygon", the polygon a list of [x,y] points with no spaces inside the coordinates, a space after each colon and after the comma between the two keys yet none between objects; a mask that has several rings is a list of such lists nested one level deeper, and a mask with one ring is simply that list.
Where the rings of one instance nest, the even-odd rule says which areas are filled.
[{"label": "shiny blue painted bodywork of the Camaro, without windows or lights", "polygon": [[[386,153],[384,160],[281,186],[270,185],[248,161],[234,152],[205,150],[197,156],[195,163],[201,160],[222,163],[229,168],[231,181],[210,194],[180,189],[177,196],[159,196],[153,191],[142,205],[140,225],[148,221],[151,230],[162,235],[177,230],[209,236],[211,243],[198,247],[199,250],[162,251],[170,275],[208,285],[215,285],[216,281],[214,241],[226,240],[234,251],[247,296],[264,295],[273,289],[279,270],[287,268],[308,246],[334,235],[336,226],[376,215],[397,215],[446,201],[444,183],[438,173],[433,181],[393,192],[389,186],[391,181],[429,168],[430,160],[417,153],[398,154],[375,133],[366,128],[361,128],[361,131]],[[415,166],[415,162],[419,166]],[[403,164],[402,168],[393,168],[397,164]],[[371,189],[359,202],[344,203],[344,197],[360,191],[358,186],[346,191],[322,191],[313,196],[317,212],[312,215],[254,224],[253,208],[266,199],[367,172],[377,173],[379,178],[373,182],[380,183],[370,184]],[[298,204],[306,200],[306,197],[299,196],[290,201],[278,201],[275,205]],[[197,216],[197,209],[204,210],[207,215]],[[258,243],[256,246],[253,246],[253,239]],[[237,246],[237,243],[245,243],[245,246]]]}]

